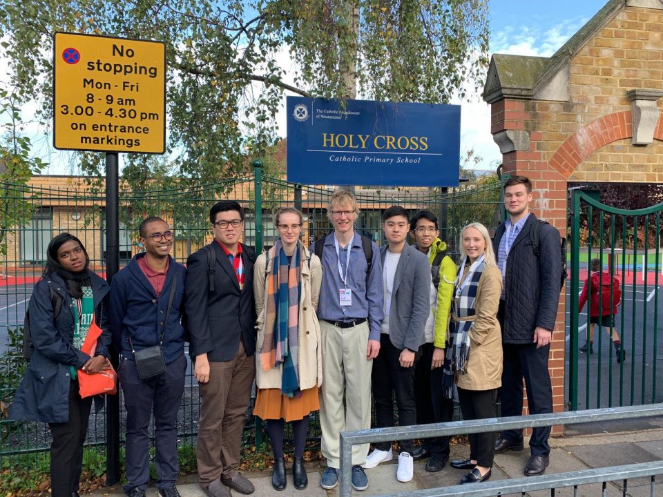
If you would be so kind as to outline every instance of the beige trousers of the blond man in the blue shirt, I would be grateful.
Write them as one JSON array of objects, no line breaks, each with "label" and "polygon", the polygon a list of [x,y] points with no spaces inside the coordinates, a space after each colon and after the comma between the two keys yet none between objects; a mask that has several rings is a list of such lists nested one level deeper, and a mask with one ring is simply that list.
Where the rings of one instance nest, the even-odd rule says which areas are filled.
[{"label": "beige trousers of the blond man in the blue shirt", "polygon": [[[320,320],[323,339],[323,386],[320,387],[320,429],[327,466],[340,467],[341,431],[371,427],[371,370],[367,360],[368,322],[337,328]],[[344,407],[345,396],[345,407]],[[363,465],[369,444],[352,446],[352,464]]]}]

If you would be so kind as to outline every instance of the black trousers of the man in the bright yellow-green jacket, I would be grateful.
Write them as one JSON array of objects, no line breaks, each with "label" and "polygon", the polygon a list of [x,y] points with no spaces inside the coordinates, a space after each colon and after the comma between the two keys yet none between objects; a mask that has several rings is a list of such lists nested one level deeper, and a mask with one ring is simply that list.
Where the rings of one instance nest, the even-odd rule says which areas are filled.
[{"label": "black trousers of the man in the bright yellow-green jacket", "polygon": [[[454,419],[454,401],[442,396],[443,369],[430,369],[433,362],[432,343],[419,348],[421,357],[414,368],[414,400],[416,402],[416,424],[448,422]],[[449,437],[425,438],[423,447],[436,459],[449,458]]]}]

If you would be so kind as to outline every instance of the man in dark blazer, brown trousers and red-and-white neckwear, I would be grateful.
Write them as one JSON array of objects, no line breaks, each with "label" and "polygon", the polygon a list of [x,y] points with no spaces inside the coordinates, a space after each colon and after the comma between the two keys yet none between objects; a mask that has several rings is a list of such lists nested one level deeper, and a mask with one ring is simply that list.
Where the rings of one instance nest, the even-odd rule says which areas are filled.
[{"label": "man in dark blazer, brown trousers and red-and-white neckwear", "polygon": [[244,416],[256,375],[256,311],[253,262],[256,253],[239,242],[244,209],[222,200],[209,211],[213,242],[189,256],[186,317],[193,373],[198,380],[198,478],[209,497],[230,489],[252,494],[239,472]]}]

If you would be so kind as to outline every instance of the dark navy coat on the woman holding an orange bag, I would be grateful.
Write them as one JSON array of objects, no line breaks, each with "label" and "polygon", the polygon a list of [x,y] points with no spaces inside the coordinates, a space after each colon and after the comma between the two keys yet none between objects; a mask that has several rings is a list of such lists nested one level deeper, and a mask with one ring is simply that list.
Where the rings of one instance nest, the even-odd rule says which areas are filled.
[{"label": "dark navy coat on the woman holding an orange bag", "polygon": [[[90,273],[95,302],[95,322],[102,329],[97,340],[97,355],[108,357],[111,331],[108,328],[108,283]],[[35,352],[26,376],[16,391],[9,417],[14,420],[48,423],[69,420],[70,366],[81,369],[90,356],[73,347],[75,305],[66,291],[66,284],[57,273],[44,275],[32,290],[30,304],[30,333]],[[63,298],[62,309],[53,316],[50,289]],[[97,410],[104,405],[104,397],[95,398]]]}]

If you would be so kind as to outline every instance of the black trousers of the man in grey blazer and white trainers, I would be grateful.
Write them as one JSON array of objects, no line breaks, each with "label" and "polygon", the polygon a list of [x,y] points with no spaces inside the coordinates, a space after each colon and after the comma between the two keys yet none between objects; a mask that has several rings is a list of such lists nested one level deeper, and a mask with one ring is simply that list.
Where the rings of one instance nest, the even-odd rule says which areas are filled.
[{"label": "black trousers of the man in grey blazer and white trainers", "polygon": [[[398,362],[401,350],[396,349],[386,333],[380,335],[380,353],[373,360],[371,381],[375,418],[378,428],[394,426],[394,400],[398,407],[398,425],[416,425],[416,404],[414,402],[414,367],[404,368]],[[401,440],[401,452],[412,456],[412,439]],[[376,447],[389,450],[390,442],[380,442]]]}]

